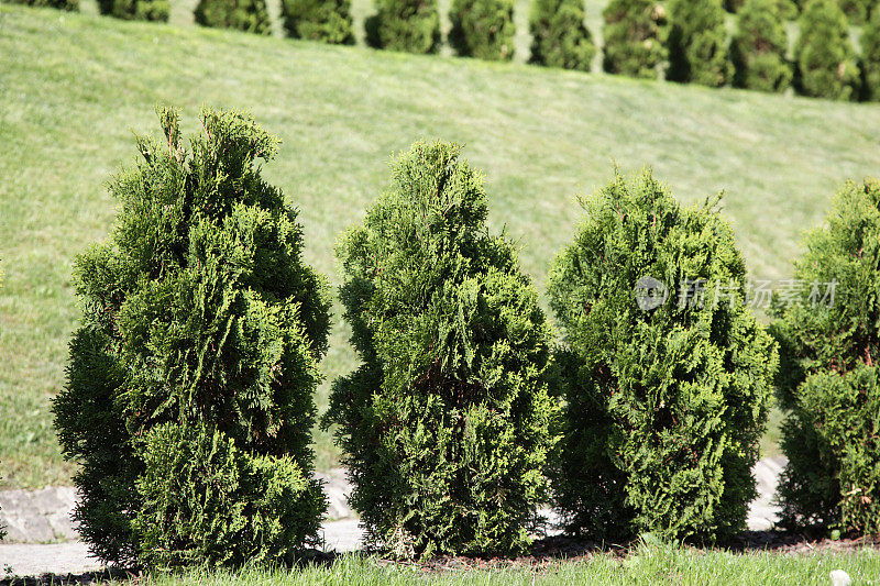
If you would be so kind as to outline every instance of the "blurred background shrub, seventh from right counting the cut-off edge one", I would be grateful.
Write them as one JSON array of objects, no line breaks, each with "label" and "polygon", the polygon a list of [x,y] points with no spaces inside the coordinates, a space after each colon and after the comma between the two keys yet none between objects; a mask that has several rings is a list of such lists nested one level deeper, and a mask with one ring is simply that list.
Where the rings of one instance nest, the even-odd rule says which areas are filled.
[{"label": "blurred background shrub, seventh from right counting the cut-off edge one", "polygon": [[514,56],[514,0],[452,0],[449,44],[463,57]]}]

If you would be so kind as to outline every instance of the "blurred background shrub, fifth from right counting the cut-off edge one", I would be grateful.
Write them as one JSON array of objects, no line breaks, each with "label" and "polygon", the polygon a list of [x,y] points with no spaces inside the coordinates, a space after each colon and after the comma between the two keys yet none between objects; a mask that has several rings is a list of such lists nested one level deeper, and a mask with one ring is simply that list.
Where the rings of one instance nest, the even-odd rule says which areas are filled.
[{"label": "blurred background shrub, fifth from right counting the cut-off edge one", "polygon": [[603,68],[609,74],[656,79],[668,56],[663,5],[653,0],[610,0],[602,14]]}]

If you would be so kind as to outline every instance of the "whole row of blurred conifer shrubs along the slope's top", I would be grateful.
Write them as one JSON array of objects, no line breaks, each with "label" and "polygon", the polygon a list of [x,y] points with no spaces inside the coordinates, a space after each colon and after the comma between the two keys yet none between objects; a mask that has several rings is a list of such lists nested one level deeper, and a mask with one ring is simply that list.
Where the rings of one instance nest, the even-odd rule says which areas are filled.
[{"label": "whole row of blurred conifer shrubs along the slope's top", "polygon": [[[7,0],[10,1],[10,0]],[[11,0],[76,10],[78,0]],[[880,100],[880,8],[871,0],[610,0],[603,16],[603,69],[710,87],[734,86],[843,100]],[[375,0],[364,23],[377,48],[436,53],[442,42],[437,0]],[[167,21],[168,0],[99,0],[103,14]],[[725,9],[735,11],[728,35]],[[349,0],[282,0],[286,34],[334,44],[355,35]],[[449,44],[460,56],[514,56],[514,0],[452,0]],[[588,71],[597,53],[583,0],[534,0],[529,62]],[[800,34],[789,59],[787,21]],[[265,0],[200,0],[197,23],[270,34]],[[850,23],[864,25],[859,55]],[[730,36],[728,38],[728,36]]]}]

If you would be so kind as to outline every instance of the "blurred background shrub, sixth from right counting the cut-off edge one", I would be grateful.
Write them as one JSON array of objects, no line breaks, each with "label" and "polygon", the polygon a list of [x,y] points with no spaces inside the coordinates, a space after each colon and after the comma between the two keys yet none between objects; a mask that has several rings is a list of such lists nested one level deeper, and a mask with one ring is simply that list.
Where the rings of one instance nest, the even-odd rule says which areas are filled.
[{"label": "blurred background shrub, sixth from right counting the cut-off edge one", "polygon": [[535,0],[529,15],[529,62],[588,71],[596,46],[584,25],[582,0]]}]

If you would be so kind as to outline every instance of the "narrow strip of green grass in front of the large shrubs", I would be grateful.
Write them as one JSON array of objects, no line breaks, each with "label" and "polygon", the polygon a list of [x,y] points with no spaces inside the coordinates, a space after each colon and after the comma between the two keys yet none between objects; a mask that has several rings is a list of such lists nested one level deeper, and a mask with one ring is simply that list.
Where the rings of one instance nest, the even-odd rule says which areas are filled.
[{"label": "narrow strip of green grass in front of the large shrubs", "polygon": [[[734,554],[676,548],[642,548],[624,559],[598,554],[576,561],[506,566],[492,570],[458,568],[427,573],[418,565],[380,564],[375,559],[345,556],[327,567],[240,572],[191,572],[142,578],[139,586],[298,586],[331,585],[827,585],[833,570],[844,570],[854,585],[876,584],[880,553],[865,549],[853,553],[787,555]],[[131,583],[132,585],[135,583]]]}]

